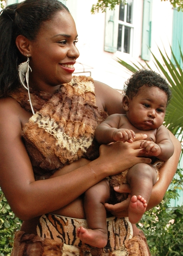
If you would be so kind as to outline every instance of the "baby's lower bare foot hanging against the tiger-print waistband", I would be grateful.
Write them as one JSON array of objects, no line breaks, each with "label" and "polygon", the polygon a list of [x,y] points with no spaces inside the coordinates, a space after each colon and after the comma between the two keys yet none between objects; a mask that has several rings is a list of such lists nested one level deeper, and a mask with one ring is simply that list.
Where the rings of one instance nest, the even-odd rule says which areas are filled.
[{"label": "baby's lower bare foot hanging against the tiger-print waistband", "polygon": [[77,237],[86,244],[102,248],[107,244],[108,236],[99,229],[86,229],[80,227],[76,232]]}]

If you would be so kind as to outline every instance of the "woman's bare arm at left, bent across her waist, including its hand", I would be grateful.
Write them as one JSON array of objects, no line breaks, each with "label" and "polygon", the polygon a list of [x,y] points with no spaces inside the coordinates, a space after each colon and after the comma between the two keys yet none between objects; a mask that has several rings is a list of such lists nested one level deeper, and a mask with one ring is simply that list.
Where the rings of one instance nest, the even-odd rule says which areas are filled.
[{"label": "woman's bare arm at left, bent across her waist, including its hand", "polygon": [[[10,207],[22,220],[49,213],[72,202],[103,178],[117,174],[138,162],[140,142],[127,147],[123,142],[102,145],[100,157],[70,173],[35,181],[31,162],[21,139],[21,118],[25,115],[13,99],[0,101],[0,187]],[[145,139],[140,135],[140,139]],[[127,143],[129,144],[129,143]],[[123,159],[119,161],[119,159]]]}]

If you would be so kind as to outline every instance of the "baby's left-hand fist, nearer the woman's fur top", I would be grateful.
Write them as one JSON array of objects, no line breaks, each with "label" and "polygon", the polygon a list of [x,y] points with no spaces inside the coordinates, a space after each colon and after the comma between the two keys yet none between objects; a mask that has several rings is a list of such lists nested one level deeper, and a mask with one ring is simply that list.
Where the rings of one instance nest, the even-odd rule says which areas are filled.
[{"label": "baby's left-hand fist, nearer the woman's fur top", "polygon": [[116,129],[114,133],[112,134],[112,139],[115,141],[123,141],[123,142],[129,142],[132,143],[132,139],[135,138],[135,133],[132,130],[129,129]]}]

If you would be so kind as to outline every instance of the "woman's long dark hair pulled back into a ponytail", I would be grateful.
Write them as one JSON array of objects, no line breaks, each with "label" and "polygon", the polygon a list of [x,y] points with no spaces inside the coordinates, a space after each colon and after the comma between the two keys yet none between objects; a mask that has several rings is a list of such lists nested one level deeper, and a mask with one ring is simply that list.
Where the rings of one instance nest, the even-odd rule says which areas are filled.
[{"label": "woman's long dark hair pulled back into a ponytail", "polygon": [[34,40],[43,21],[58,11],[68,11],[58,0],[25,0],[7,6],[0,13],[0,97],[19,85],[18,65],[25,57],[16,47],[16,38],[23,35]]}]

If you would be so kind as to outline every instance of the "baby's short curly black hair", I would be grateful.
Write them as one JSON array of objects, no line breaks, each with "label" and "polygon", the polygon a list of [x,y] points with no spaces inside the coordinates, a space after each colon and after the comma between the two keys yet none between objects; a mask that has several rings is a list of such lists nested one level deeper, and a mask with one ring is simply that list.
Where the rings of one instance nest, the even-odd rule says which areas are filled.
[{"label": "baby's short curly black hair", "polygon": [[129,78],[124,85],[123,94],[134,97],[141,86],[156,86],[167,94],[167,105],[171,99],[171,90],[167,81],[155,71],[149,69],[140,69]]}]

